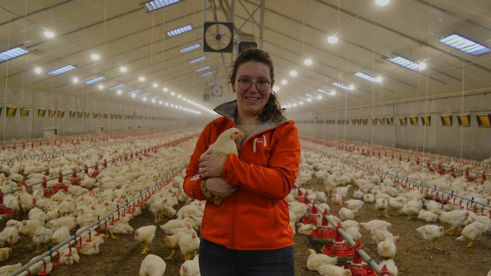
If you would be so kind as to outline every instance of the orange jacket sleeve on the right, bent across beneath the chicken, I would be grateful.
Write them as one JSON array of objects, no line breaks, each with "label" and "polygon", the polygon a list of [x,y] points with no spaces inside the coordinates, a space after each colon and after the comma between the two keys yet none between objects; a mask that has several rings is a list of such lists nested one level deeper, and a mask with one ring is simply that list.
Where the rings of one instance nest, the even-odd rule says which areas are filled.
[{"label": "orange jacket sleeve on the right, bent across beneath the chicken", "polygon": [[271,150],[268,167],[240,161],[236,155],[230,154],[223,165],[223,180],[273,200],[285,198],[297,178],[300,141],[293,122],[278,130],[279,133],[275,133],[278,140]]}]

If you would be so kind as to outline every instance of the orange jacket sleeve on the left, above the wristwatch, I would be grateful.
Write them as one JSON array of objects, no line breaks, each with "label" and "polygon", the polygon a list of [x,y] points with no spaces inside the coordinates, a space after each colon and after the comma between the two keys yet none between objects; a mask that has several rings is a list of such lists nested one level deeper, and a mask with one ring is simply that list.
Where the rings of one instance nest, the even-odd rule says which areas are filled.
[{"label": "orange jacket sleeve on the left, above the wristwatch", "polygon": [[212,200],[213,198],[208,198],[203,195],[201,192],[201,181],[191,180],[199,170],[199,158],[201,155],[206,152],[210,145],[210,132],[211,132],[211,123],[207,124],[201,134],[198,137],[198,141],[196,142],[196,146],[194,147],[194,152],[191,155],[191,159],[189,160],[189,165],[186,169],[186,177],[184,178],[184,192],[190,198],[194,198],[197,200]]}]

